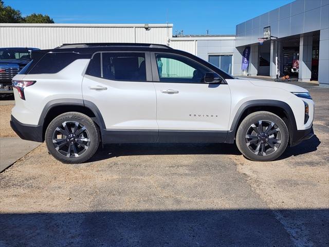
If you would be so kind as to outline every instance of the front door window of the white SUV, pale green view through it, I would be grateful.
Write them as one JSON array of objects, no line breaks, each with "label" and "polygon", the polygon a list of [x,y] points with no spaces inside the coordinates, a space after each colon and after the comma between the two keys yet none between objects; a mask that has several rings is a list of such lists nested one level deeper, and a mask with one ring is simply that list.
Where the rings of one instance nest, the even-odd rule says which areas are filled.
[{"label": "front door window of the white SUV, pale green view through it", "polygon": [[161,82],[202,83],[206,72],[210,72],[191,59],[173,54],[156,54],[156,62]]}]

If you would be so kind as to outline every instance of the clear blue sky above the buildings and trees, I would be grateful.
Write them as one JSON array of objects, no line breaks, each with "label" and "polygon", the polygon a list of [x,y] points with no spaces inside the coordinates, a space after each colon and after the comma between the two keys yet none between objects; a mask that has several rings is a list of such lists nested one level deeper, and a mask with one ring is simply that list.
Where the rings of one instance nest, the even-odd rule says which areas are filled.
[{"label": "clear blue sky above the buildings and trees", "polygon": [[184,34],[234,34],[235,25],[293,0],[105,1],[4,0],[23,15],[48,14],[56,23],[166,23]]}]

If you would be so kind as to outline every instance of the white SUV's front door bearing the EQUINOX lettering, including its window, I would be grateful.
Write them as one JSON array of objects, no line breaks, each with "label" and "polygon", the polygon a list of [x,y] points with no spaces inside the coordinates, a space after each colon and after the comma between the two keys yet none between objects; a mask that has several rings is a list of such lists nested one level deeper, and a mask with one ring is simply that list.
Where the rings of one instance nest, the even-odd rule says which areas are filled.
[{"label": "white SUV's front door bearing the EQUINOX lettering, including its window", "polygon": [[229,86],[205,83],[204,75],[211,70],[190,58],[156,53],[151,57],[158,142],[224,142],[230,117]]}]

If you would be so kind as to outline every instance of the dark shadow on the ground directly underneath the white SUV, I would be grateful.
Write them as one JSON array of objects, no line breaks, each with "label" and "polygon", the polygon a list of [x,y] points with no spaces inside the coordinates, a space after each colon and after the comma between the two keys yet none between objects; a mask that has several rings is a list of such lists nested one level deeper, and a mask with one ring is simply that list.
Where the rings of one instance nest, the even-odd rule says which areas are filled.
[{"label": "dark shadow on the ground directly underneath the white SUV", "polygon": [[[295,147],[287,147],[278,158],[282,160],[290,156],[297,156],[317,150],[319,138],[314,135]],[[231,154],[241,155],[235,144],[218,143],[131,143],[100,145],[96,154],[88,162],[102,161],[107,158],[131,155],[182,155],[182,154]]]}]

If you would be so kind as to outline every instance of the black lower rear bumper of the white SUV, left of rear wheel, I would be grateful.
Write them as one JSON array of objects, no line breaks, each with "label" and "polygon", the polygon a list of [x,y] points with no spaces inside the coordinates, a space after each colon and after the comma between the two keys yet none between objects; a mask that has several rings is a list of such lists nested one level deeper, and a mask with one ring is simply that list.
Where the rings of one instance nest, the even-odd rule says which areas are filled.
[{"label": "black lower rear bumper of the white SUV, left of rear wheel", "polygon": [[40,125],[25,125],[11,115],[11,128],[24,140],[43,142],[43,129]]}]

